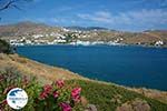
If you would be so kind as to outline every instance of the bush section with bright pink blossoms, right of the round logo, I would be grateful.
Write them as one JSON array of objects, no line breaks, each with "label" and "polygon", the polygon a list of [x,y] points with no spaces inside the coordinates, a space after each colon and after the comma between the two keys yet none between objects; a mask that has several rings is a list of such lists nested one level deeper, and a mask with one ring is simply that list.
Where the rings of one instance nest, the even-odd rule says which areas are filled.
[{"label": "bush section with bright pink blossoms, right of the round logo", "polygon": [[62,80],[46,84],[37,99],[37,109],[45,111],[71,111],[80,105],[81,88],[65,87]]}]

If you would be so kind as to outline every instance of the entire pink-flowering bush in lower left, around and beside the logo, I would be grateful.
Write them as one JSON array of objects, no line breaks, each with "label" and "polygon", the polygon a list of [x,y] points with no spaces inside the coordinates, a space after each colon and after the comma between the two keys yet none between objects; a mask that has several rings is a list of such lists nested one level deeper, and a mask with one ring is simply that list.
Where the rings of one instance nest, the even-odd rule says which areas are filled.
[{"label": "entire pink-flowering bush in lower left, around and beside the logo", "polygon": [[35,78],[27,78],[13,69],[0,72],[0,111],[12,110],[6,101],[7,93],[13,88],[21,88],[28,93],[28,104],[23,111],[71,111],[82,110],[81,88],[72,88],[62,80],[52,84],[40,85]]}]

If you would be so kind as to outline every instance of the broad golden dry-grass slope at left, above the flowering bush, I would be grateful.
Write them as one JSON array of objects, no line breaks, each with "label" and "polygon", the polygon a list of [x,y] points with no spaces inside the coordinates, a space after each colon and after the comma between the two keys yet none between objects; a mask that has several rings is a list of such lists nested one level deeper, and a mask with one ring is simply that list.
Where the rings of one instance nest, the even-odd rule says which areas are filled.
[{"label": "broad golden dry-grass slope at left, above the flowering bush", "polygon": [[20,73],[26,75],[35,75],[41,83],[50,83],[51,81],[63,79],[84,79],[77,73],[68,70],[46,65],[26,58],[21,58],[18,54],[0,54],[0,70],[12,67]]}]

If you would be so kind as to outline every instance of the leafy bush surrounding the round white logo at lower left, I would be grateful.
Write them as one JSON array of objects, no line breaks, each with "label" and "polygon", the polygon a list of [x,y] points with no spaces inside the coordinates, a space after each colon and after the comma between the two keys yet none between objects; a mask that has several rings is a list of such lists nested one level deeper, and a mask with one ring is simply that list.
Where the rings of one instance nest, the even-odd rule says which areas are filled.
[{"label": "leafy bush surrounding the round white logo at lower left", "polygon": [[[36,78],[28,78],[16,71],[13,68],[8,68],[0,72],[0,110],[12,110],[6,101],[7,93],[13,88],[24,89],[29,95],[29,102],[26,107],[30,111],[36,107],[35,99],[39,93],[39,84]],[[2,102],[1,102],[2,101]]]}]

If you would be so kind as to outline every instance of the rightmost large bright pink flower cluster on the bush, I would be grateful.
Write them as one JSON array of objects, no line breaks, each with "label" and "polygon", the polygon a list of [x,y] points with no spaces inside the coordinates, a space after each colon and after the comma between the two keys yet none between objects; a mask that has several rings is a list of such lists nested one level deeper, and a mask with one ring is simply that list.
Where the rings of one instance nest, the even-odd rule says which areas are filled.
[{"label": "rightmost large bright pink flower cluster on the bush", "polygon": [[80,101],[80,92],[81,92],[81,88],[75,88],[72,91],[71,91],[71,97],[72,97],[72,100],[75,102],[79,102]]}]

